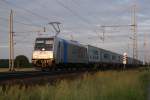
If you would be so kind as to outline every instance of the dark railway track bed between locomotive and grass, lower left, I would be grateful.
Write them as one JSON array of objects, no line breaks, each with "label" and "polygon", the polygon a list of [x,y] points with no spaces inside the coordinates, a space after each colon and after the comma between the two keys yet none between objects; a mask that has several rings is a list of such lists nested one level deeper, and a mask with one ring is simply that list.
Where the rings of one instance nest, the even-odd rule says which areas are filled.
[{"label": "dark railway track bed between locomotive and grass, lower left", "polygon": [[37,84],[42,83],[44,80],[50,82],[51,80],[57,80],[61,78],[68,78],[72,76],[77,76],[85,73],[87,71],[19,71],[19,72],[1,72],[0,73],[0,85],[10,85],[10,84]]}]

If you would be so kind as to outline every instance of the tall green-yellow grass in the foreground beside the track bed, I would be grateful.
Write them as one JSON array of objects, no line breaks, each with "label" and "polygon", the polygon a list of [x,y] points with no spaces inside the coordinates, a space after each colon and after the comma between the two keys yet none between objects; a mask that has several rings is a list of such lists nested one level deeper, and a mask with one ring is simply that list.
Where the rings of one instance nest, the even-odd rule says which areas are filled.
[{"label": "tall green-yellow grass in the foreground beside the track bed", "polygon": [[0,100],[146,100],[146,71],[106,71],[56,85],[0,88]]}]

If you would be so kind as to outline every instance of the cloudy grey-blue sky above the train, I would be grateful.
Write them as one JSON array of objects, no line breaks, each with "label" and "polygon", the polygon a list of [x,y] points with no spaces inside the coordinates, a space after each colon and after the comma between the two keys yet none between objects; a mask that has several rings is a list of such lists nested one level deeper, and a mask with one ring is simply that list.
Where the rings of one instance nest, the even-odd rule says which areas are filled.
[{"label": "cloudy grey-blue sky above the train", "polygon": [[[55,34],[48,23],[61,23],[59,37],[132,57],[132,8],[136,5],[138,55],[150,59],[149,0],[0,0],[0,59],[9,57],[9,14],[14,12],[15,56],[30,60],[36,37]],[[105,27],[104,41],[103,28]],[[46,32],[43,32],[46,27]],[[144,49],[144,36],[146,46]],[[130,38],[131,37],[131,38]]]}]

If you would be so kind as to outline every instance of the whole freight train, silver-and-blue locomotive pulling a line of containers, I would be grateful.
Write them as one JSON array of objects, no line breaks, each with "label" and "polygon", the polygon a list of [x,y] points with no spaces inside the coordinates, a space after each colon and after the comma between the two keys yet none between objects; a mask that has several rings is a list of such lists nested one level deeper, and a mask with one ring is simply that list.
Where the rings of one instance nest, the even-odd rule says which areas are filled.
[{"label": "whole freight train, silver-and-blue locomotive pulling a line of containers", "polygon": [[[121,68],[122,58],[120,54],[98,47],[50,37],[36,38],[32,64],[41,70]],[[135,66],[135,62],[141,64],[139,60],[128,57],[127,66]]]}]

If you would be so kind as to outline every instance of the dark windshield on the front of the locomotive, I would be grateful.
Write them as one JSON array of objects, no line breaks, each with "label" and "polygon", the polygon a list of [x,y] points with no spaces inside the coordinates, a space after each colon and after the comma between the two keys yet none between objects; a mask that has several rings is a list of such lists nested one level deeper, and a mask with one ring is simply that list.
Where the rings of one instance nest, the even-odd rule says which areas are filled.
[{"label": "dark windshield on the front of the locomotive", "polygon": [[35,50],[52,51],[53,49],[53,38],[37,38],[35,41]]}]

